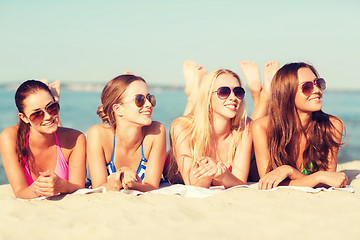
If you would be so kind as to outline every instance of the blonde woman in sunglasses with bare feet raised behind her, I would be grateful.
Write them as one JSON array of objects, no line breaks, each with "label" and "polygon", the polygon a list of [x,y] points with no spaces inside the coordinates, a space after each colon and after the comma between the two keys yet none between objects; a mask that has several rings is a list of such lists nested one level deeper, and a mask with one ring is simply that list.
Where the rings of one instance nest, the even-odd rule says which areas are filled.
[{"label": "blonde woman in sunglasses with bare feet raised behind her", "polygon": [[[266,97],[259,99],[259,70],[251,62],[242,63],[252,86],[251,92],[256,93],[253,97],[259,100],[257,106],[263,106],[263,113],[257,111],[257,114],[265,115]],[[276,72],[276,65],[277,62],[271,64],[269,76],[270,69],[273,74]],[[186,115],[171,125],[167,178],[171,183],[206,188],[245,184],[252,150],[252,120],[246,114],[245,90],[239,76],[230,70],[219,69],[204,77],[205,74],[206,70],[195,62],[185,62],[188,105]]]}]

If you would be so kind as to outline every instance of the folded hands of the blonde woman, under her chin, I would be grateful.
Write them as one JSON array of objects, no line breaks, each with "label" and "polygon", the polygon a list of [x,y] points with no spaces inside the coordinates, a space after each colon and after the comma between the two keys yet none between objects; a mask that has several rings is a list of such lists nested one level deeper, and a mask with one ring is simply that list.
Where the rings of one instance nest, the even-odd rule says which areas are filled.
[{"label": "folded hands of the blonde woman, under her chin", "polygon": [[220,161],[204,157],[199,160],[200,166],[193,172],[196,178],[209,177],[216,181],[222,181],[227,171],[227,167]]}]

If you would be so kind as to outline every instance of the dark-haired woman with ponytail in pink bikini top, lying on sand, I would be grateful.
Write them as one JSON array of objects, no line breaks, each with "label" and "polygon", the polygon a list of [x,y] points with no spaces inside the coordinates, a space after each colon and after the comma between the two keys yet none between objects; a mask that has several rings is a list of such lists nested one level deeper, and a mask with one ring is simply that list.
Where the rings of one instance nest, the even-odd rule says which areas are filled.
[{"label": "dark-haired woman with ponytail in pink bikini top, lying on sand", "polygon": [[26,81],[17,89],[15,102],[19,123],[0,135],[1,158],[15,196],[54,196],[83,188],[85,136],[59,127],[60,106],[49,87]]}]

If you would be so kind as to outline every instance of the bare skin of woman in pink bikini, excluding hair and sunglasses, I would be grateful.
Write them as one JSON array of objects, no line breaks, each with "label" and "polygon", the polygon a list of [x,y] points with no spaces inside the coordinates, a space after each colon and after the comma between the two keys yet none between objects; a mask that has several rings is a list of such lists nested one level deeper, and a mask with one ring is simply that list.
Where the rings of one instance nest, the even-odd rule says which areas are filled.
[{"label": "bare skin of woman in pink bikini, excluding hair and sunglasses", "polygon": [[[58,116],[50,115],[46,106],[53,103],[52,96],[45,90],[38,90],[24,99],[23,113],[19,117],[30,124],[29,149],[34,156],[31,176],[34,180],[27,183],[22,165],[17,159],[16,135],[18,126],[5,129],[0,135],[0,150],[8,180],[16,197],[34,198],[70,193],[85,184],[85,136],[73,129],[58,127]],[[39,123],[30,121],[29,116],[44,111]],[[54,170],[57,164],[57,149],[54,132],[57,133],[61,151],[69,164],[69,181],[58,177]]]}]

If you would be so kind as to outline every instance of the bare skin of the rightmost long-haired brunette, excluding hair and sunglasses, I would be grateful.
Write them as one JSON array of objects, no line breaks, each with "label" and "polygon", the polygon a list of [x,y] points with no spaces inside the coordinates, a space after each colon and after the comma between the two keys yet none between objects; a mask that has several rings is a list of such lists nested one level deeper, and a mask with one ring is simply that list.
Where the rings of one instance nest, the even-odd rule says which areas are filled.
[{"label": "bare skin of the rightmost long-haired brunette, excluding hair and sunglasses", "polygon": [[[309,68],[300,68],[298,70],[298,91],[295,95],[295,106],[297,108],[301,124],[304,129],[307,128],[311,121],[311,114],[314,111],[319,111],[322,108],[322,90],[318,86],[314,86],[313,91],[305,95],[302,92],[301,86],[307,81],[314,81],[315,74]],[[330,119],[338,130],[334,133],[336,138],[341,139],[342,124],[334,119]],[[310,175],[301,173],[301,170],[305,166],[303,165],[303,151],[305,149],[307,140],[304,134],[301,134],[299,140],[300,154],[296,159],[297,168],[293,168],[289,165],[283,165],[276,169],[267,172],[267,166],[270,161],[270,152],[267,143],[267,129],[269,126],[269,116],[260,118],[253,123],[252,133],[254,139],[254,148],[257,161],[257,167],[259,171],[260,181],[259,189],[271,189],[280,184],[294,185],[294,186],[309,186],[314,187],[318,184],[326,184],[334,187],[344,187],[347,183],[347,177],[342,172],[336,172],[337,165],[337,153],[338,149],[334,149],[334,155],[329,154],[329,165],[326,171],[318,171]],[[284,181],[285,179],[289,181]]]}]

